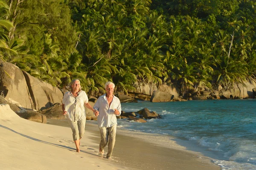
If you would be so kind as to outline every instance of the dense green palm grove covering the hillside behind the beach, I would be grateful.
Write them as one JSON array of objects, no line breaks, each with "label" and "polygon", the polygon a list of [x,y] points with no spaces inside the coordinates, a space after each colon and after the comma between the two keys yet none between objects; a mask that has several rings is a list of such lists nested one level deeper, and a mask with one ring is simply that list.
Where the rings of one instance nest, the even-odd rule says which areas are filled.
[{"label": "dense green palm grove covering the hillside behind the beach", "polygon": [[0,59],[91,94],[229,88],[256,76],[255,18],[254,0],[0,0]]}]

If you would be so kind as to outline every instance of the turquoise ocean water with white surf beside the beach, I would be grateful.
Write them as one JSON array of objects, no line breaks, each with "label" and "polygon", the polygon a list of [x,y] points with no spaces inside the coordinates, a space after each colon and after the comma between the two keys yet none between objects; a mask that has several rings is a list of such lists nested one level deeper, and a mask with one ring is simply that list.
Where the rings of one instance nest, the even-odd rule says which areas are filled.
[{"label": "turquoise ocean water with white surf beside the beach", "polygon": [[140,101],[121,105],[125,112],[146,107],[162,115],[163,119],[150,119],[146,123],[118,119],[119,128],[175,136],[209,153],[222,170],[256,170],[255,99]]}]

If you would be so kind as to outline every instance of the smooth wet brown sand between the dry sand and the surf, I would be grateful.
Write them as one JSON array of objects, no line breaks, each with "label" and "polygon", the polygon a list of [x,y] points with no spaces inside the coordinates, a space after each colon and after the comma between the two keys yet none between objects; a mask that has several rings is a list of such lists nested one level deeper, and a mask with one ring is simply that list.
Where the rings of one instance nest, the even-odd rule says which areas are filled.
[{"label": "smooth wet brown sand between the dry sand and the surf", "polygon": [[[48,119],[47,124],[69,127],[65,120]],[[100,138],[96,121],[86,121],[85,138],[87,133],[93,133],[95,149],[98,149]],[[72,132],[70,130],[70,138]],[[81,139],[81,143],[86,139]],[[112,158],[117,164],[128,169],[140,170],[220,170],[211,159],[203,153],[187,150],[177,144],[176,138],[157,134],[147,134],[123,130],[117,127],[116,144]],[[170,140],[172,139],[172,140]],[[105,154],[107,148],[105,148]],[[104,156],[105,156],[104,154]]]}]

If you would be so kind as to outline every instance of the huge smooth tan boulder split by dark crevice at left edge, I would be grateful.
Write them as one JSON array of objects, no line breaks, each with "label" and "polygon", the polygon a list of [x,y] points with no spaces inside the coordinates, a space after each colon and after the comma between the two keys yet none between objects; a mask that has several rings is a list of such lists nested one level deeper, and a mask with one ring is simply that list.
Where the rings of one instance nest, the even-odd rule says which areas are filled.
[{"label": "huge smooth tan boulder split by dark crevice at left edge", "polygon": [[4,62],[0,67],[0,94],[11,103],[24,109],[45,109],[61,103],[60,89],[32,77],[12,63]]}]

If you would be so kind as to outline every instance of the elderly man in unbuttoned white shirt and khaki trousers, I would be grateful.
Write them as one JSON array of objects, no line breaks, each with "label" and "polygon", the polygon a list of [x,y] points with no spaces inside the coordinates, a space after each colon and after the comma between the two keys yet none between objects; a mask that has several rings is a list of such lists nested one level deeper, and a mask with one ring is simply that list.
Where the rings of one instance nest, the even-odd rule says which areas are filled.
[{"label": "elderly man in unbuttoned white shirt and khaki trousers", "polygon": [[113,148],[116,141],[116,116],[121,114],[121,104],[119,98],[113,95],[115,84],[107,82],[105,84],[106,94],[98,98],[94,109],[94,114],[98,116],[98,126],[101,141],[99,144],[99,153],[104,154],[104,148],[108,144],[107,158],[111,159]]}]

